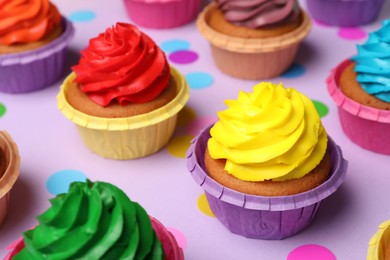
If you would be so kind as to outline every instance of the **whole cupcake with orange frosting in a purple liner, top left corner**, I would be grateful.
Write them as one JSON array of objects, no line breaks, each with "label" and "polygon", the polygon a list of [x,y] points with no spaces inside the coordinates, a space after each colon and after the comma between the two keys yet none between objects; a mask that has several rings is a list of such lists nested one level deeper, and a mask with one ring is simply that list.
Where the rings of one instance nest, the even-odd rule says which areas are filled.
[{"label": "whole cupcake with orange frosting in a purple liner, top left corner", "polygon": [[31,92],[56,82],[73,34],[48,0],[1,1],[0,92]]}]

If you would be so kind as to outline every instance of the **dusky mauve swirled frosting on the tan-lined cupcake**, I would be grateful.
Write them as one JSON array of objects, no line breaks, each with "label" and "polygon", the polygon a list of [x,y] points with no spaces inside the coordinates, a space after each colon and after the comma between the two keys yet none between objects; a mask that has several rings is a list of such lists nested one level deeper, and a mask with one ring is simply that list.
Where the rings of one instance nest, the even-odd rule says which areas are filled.
[{"label": "dusky mauve swirled frosting on the tan-lined cupcake", "polygon": [[249,28],[278,25],[299,18],[296,0],[215,0],[227,21]]}]

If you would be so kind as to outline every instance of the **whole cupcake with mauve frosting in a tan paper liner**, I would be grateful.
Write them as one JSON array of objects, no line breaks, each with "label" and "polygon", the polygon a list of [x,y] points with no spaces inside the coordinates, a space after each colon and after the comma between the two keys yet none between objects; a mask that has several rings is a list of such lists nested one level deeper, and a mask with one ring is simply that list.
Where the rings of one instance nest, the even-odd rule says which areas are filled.
[{"label": "whole cupcake with mauve frosting in a tan paper liner", "polygon": [[256,80],[291,66],[311,23],[296,0],[216,0],[198,16],[197,27],[222,72]]}]

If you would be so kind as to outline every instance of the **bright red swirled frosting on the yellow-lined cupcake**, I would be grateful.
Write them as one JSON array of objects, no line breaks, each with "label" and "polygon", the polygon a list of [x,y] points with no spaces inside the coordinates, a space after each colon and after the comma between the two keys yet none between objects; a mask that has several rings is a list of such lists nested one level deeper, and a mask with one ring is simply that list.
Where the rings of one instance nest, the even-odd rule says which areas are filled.
[{"label": "bright red swirled frosting on the yellow-lined cupcake", "polygon": [[91,39],[72,69],[81,91],[104,107],[114,100],[121,105],[151,101],[170,78],[161,49],[137,27],[125,23]]}]

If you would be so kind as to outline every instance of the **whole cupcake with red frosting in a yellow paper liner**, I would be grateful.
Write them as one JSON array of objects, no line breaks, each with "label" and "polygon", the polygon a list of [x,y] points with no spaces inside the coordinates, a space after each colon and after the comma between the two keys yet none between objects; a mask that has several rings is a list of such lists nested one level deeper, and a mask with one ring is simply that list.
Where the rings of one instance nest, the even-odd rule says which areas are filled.
[{"label": "whole cupcake with red frosting in a yellow paper liner", "polygon": [[90,40],[72,69],[58,108],[93,152],[132,159],[168,143],[189,87],[146,34],[117,23]]}]

